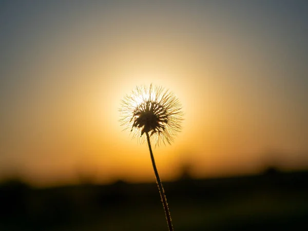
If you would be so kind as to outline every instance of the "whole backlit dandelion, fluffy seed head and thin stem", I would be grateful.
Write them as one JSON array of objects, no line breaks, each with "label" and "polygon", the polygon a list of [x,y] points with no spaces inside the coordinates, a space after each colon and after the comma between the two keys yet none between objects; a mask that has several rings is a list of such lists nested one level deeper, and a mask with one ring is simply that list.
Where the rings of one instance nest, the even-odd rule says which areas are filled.
[{"label": "whole backlit dandelion, fluffy seed head and thin stem", "polygon": [[[151,140],[156,145],[171,144],[181,130],[182,105],[176,95],[161,86],[141,86],[125,95],[122,100],[121,125],[130,129],[133,137],[148,143],[161,200],[165,209],[169,230],[173,230],[170,212],[161,179],[156,168]],[[145,135],[145,136],[144,136]]]}]

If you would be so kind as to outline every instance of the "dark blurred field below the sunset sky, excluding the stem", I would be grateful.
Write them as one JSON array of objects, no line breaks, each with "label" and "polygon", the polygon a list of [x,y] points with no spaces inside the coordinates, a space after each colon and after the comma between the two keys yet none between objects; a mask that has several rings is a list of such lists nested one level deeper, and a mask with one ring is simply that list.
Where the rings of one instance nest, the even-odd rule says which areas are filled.
[{"label": "dark blurred field below the sunset sky, excluding the stem", "polygon": [[[177,231],[308,230],[308,171],[164,182]],[[0,230],[168,230],[156,184],[0,186]]]}]

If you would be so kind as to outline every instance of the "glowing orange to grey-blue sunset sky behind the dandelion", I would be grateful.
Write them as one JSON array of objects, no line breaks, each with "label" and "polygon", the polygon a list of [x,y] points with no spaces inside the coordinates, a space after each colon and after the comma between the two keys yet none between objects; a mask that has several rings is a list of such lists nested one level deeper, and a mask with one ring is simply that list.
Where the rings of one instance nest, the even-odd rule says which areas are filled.
[{"label": "glowing orange to grey-blue sunset sky behind the dandelion", "polygon": [[183,106],[163,181],[308,166],[306,1],[0,1],[0,178],[155,181],[120,126],[136,86]]}]

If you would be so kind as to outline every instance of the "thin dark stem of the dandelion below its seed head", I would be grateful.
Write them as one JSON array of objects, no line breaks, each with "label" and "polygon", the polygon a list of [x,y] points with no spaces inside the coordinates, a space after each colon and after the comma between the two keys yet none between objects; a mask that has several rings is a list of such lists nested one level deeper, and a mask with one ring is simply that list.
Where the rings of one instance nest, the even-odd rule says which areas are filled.
[{"label": "thin dark stem of the dandelion below its seed head", "polygon": [[159,177],[159,174],[158,174],[158,171],[157,171],[157,168],[156,168],[156,164],[155,164],[155,160],[154,160],[154,156],[153,156],[153,152],[152,152],[152,148],[151,148],[151,143],[150,143],[150,138],[149,138],[148,132],[146,132],[146,139],[147,139],[149,150],[150,150],[150,155],[151,155],[153,169],[154,169],[154,172],[155,172],[156,182],[157,182],[159,193],[160,193],[160,196],[161,196],[161,200],[163,202],[163,206],[164,206],[164,209],[165,209],[165,214],[166,214],[166,218],[167,218],[167,223],[168,223],[169,231],[173,231],[174,229],[173,229],[172,223],[171,223],[171,216],[170,216],[170,212],[169,212],[167,198],[166,198],[166,195],[165,195],[163,184],[161,182],[161,179]]}]

